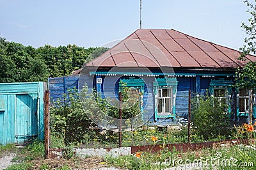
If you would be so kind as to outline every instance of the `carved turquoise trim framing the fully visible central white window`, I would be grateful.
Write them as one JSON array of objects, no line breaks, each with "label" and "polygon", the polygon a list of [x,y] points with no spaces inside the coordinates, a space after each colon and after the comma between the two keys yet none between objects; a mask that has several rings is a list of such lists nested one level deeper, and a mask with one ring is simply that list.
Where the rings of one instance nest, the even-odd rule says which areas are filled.
[{"label": "carved turquoise trim framing the fully visible central white window", "polygon": [[[177,95],[177,85],[178,81],[175,77],[172,78],[155,78],[155,81],[153,82],[154,86],[154,95],[155,95],[155,109],[154,109],[154,118],[155,121],[157,121],[158,118],[173,118],[173,120],[176,119],[176,105],[175,105],[175,100],[176,100],[176,95]],[[173,100],[172,100],[172,114],[158,114],[157,113],[157,93],[159,89],[161,88],[172,88],[173,90]]]}]

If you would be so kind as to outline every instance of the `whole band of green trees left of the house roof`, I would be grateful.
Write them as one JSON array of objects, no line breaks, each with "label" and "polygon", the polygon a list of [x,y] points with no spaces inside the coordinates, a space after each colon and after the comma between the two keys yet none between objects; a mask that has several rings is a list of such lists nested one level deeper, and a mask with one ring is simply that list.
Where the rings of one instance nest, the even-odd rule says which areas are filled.
[{"label": "whole band of green trees left of the house roof", "polygon": [[79,70],[108,48],[45,45],[35,49],[0,37],[0,82],[47,81]]}]

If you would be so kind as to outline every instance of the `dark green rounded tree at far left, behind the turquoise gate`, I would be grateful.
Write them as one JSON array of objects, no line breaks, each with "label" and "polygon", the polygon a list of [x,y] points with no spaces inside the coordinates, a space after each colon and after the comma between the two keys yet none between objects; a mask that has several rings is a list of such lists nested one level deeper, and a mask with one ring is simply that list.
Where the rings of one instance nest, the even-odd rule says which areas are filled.
[{"label": "dark green rounded tree at far left, behind the turquoise gate", "polygon": [[35,48],[0,38],[0,82],[45,81],[47,66]]}]

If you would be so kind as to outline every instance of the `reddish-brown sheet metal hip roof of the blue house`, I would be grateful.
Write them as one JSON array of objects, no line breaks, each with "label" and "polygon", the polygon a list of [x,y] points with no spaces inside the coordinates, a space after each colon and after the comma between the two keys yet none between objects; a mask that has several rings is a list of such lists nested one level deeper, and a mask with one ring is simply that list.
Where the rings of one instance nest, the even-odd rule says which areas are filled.
[{"label": "reddish-brown sheet metal hip roof of the blue house", "polygon": [[[237,68],[239,51],[173,29],[138,29],[86,66]],[[253,56],[248,60],[256,61]]]}]

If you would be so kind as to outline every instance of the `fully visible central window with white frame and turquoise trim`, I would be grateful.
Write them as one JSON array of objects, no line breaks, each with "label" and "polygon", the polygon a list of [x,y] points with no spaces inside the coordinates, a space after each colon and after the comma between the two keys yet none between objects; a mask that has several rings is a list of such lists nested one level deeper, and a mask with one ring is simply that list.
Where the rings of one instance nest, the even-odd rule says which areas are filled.
[{"label": "fully visible central window with white frame and turquoise trim", "polygon": [[158,118],[175,119],[176,78],[157,78],[154,81],[155,121]]}]

